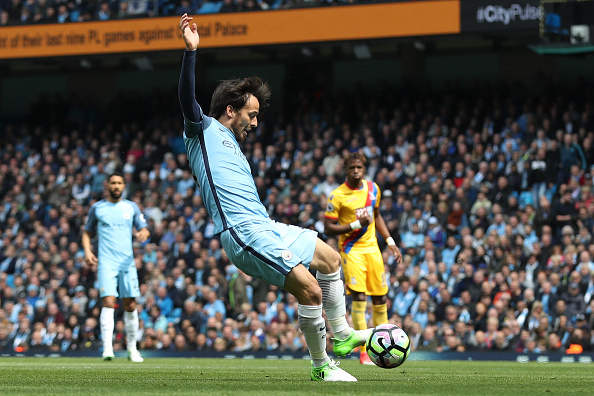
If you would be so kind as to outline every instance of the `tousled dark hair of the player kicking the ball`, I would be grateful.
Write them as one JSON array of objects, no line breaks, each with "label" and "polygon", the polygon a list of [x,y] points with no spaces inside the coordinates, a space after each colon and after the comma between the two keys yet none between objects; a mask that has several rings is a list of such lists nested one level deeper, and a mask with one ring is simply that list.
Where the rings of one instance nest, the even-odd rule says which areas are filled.
[{"label": "tousled dark hair of the player kicking the ball", "polygon": [[260,109],[268,106],[270,86],[260,77],[223,80],[215,88],[210,102],[209,116],[218,119],[227,111],[227,106],[240,111],[253,95],[260,102]]}]

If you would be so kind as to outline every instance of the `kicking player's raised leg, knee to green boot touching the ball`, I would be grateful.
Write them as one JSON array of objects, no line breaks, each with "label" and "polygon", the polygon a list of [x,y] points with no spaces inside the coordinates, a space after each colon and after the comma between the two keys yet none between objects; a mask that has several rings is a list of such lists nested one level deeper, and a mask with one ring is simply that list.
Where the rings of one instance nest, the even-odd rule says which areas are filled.
[{"label": "kicking player's raised leg, knee to green boot touching the ball", "polygon": [[364,345],[371,329],[353,330],[346,321],[344,283],[340,278],[340,255],[318,239],[310,268],[317,271],[316,278],[322,288],[322,304],[334,331],[334,353],[346,356]]}]

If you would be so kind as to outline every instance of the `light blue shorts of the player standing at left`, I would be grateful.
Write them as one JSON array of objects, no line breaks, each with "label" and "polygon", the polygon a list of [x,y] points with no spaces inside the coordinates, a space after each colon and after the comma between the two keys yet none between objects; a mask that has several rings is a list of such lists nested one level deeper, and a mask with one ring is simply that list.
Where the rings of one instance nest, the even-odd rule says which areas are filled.
[{"label": "light blue shorts of the player standing at left", "polygon": [[128,267],[127,270],[121,270],[118,267],[99,264],[97,283],[100,297],[136,298],[140,296],[138,272],[134,265]]}]

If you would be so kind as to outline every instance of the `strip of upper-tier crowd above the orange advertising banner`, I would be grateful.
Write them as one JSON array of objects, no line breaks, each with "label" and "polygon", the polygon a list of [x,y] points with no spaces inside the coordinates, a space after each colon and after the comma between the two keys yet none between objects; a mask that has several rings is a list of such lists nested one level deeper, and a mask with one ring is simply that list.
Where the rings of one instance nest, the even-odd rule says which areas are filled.
[{"label": "strip of upper-tier crowd above the orange advertising banner", "polygon": [[[365,1],[368,2],[368,1]],[[360,3],[354,0],[0,0],[0,26],[264,11]]]}]

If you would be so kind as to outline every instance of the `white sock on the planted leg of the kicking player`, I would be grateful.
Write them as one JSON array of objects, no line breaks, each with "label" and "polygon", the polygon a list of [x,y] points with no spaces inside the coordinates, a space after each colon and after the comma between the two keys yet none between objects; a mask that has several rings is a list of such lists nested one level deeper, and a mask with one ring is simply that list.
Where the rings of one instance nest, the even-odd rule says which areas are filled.
[{"label": "white sock on the planted leg of the kicking player", "polygon": [[299,328],[303,332],[314,367],[330,361],[326,354],[326,322],[321,305],[298,305]]}]

